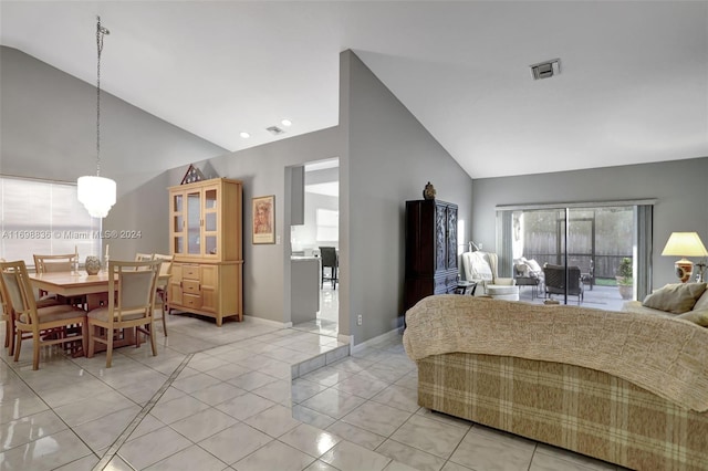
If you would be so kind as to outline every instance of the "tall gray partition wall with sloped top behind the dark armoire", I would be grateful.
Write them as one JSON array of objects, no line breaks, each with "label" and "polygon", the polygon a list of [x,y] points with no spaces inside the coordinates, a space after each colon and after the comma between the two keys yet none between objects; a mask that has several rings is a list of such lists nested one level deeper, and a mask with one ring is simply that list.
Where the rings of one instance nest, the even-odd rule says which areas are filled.
[{"label": "tall gray partition wall with sloped top behind the dark armoire", "polygon": [[[341,81],[340,125],[348,140],[340,160],[340,214],[348,232],[340,240],[340,260],[344,253],[341,276],[348,282],[340,300],[347,300],[358,344],[403,322],[405,201],[421,199],[430,181],[438,199],[459,206],[469,228],[472,181],[351,51],[341,54]],[[466,232],[460,242],[469,240]],[[355,322],[360,314],[362,326]]]}]

